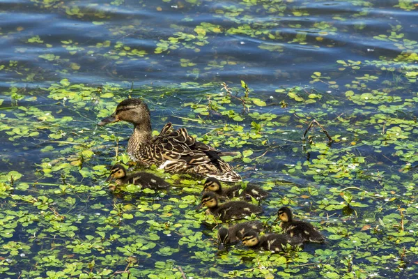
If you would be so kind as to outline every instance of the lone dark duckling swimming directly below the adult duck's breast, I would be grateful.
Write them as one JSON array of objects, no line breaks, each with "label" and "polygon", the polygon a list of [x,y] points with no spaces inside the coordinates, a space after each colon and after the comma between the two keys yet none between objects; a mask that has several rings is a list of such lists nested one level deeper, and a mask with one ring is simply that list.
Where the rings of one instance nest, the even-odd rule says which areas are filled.
[{"label": "lone dark duckling swimming directly below the adult duck's breast", "polygon": [[141,185],[143,188],[161,189],[170,186],[169,183],[164,181],[161,177],[148,172],[135,172],[133,174],[127,174],[123,165],[114,165],[110,169],[110,175],[106,181],[114,179],[116,184],[136,184]]}]

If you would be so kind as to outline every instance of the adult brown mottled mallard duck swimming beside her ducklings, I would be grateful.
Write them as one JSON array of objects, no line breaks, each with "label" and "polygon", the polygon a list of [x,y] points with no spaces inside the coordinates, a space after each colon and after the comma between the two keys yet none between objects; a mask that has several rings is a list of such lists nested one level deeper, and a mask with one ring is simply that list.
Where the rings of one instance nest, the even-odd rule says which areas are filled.
[{"label": "adult brown mottled mallard duck swimming beside her ducklings", "polygon": [[99,126],[117,121],[134,125],[134,133],[127,142],[127,153],[142,165],[157,165],[167,172],[192,172],[216,177],[221,181],[240,181],[241,176],[220,158],[221,151],[197,142],[185,128],[173,130],[171,123],[162,128],[160,135],[151,134],[150,110],[139,99],[119,103],[111,116],[102,119]]}]

